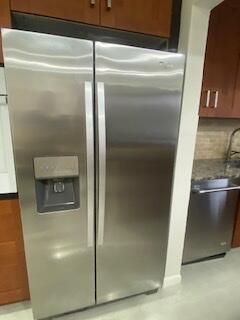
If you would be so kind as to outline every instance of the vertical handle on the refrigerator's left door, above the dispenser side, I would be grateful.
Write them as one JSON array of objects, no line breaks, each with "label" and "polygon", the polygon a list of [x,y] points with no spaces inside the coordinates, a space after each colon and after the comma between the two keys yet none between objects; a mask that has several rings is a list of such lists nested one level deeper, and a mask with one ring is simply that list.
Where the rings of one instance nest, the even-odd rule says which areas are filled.
[{"label": "vertical handle on the refrigerator's left door, above the dispenser side", "polygon": [[92,82],[85,82],[85,117],[87,149],[87,244],[94,245],[94,136]]}]

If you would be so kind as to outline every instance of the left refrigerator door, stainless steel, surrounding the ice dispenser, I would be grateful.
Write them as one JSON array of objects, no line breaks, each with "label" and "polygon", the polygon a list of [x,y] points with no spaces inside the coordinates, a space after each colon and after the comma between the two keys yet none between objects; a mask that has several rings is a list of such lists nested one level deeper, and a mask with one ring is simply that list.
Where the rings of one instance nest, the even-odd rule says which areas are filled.
[{"label": "left refrigerator door, stainless steel, surrounding the ice dispenser", "polygon": [[[3,52],[31,302],[45,318],[95,304],[93,44],[4,30]],[[34,159],[46,156],[40,169],[54,171],[46,185],[57,184],[56,197],[76,173],[66,178],[78,179],[74,209],[38,213]],[[65,168],[66,156],[78,166]]]}]

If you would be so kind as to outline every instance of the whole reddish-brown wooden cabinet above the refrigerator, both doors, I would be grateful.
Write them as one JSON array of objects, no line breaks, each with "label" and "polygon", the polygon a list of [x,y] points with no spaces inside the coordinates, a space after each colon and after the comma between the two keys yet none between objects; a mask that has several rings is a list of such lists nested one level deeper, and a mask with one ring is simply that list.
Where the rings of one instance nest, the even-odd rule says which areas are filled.
[{"label": "whole reddish-brown wooden cabinet above the refrigerator, both doors", "polygon": [[170,37],[173,0],[10,0],[11,10]]}]

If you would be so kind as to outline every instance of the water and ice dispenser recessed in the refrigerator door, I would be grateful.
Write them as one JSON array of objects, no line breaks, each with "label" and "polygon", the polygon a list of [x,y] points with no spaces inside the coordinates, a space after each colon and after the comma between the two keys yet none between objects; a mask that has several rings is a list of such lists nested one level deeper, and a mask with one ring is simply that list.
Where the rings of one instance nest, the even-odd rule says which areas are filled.
[{"label": "water and ice dispenser recessed in the refrigerator door", "polygon": [[33,161],[37,211],[47,213],[78,208],[78,157],[39,157]]}]

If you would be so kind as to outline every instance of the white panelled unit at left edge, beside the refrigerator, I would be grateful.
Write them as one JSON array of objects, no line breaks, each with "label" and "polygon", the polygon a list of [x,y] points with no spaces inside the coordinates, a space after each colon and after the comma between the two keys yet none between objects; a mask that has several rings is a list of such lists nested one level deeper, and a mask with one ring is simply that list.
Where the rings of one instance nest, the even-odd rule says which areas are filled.
[{"label": "white panelled unit at left edge, beside the refrigerator", "polygon": [[[0,68],[0,95],[6,94],[4,68]],[[12,138],[6,98],[0,96],[0,194],[17,192]]]}]

